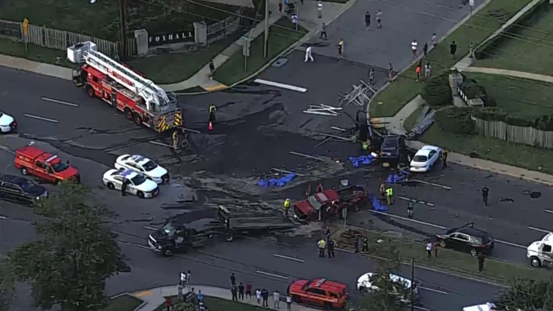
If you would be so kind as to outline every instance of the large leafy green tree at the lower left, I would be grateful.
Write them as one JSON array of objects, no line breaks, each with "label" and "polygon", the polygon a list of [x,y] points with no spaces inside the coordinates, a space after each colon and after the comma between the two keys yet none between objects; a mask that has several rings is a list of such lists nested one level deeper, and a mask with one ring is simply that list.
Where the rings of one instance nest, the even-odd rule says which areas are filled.
[{"label": "large leafy green tree at the lower left", "polygon": [[9,253],[19,281],[29,281],[34,304],[49,310],[96,311],[107,305],[105,281],[128,271],[121,249],[103,222],[111,212],[90,200],[85,186],[63,183],[33,211],[41,240]]}]

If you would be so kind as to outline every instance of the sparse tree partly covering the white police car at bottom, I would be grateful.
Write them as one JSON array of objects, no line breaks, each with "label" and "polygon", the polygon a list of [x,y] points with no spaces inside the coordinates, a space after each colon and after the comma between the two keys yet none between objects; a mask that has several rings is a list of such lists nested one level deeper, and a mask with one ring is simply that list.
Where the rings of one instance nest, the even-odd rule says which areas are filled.
[{"label": "sparse tree partly covering the white police car at bottom", "polygon": [[374,253],[379,257],[375,260],[377,271],[369,281],[378,290],[363,296],[354,308],[363,311],[403,311],[410,292],[403,282],[390,279],[390,274],[395,274],[400,268],[400,250],[395,243],[386,240],[377,245]]}]

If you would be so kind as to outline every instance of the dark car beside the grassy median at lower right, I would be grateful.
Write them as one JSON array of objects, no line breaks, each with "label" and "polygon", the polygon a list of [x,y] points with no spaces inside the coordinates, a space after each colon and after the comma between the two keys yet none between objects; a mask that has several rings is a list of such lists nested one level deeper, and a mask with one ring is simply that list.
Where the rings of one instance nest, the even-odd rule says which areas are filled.
[{"label": "dark car beside the grassy median at lower right", "polygon": [[486,231],[475,229],[474,222],[455,229],[447,229],[436,237],[441,247],[468,252],[472,256],[489,253],[494,247],[493,237]]}]

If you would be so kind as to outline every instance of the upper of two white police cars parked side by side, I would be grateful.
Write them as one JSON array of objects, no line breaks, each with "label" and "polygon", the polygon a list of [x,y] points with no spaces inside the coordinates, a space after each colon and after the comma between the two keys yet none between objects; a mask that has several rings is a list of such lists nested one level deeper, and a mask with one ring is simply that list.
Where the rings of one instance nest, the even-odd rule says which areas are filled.
[{"label": "upper of two white police cars parked side by side", "polygon": [[169,173],[167,170],[143,155],[120,155],[117,160],[115,160],[114,166],[116,169],[134,170],[134,172],[143,174],[158,184],[169,182]]}]

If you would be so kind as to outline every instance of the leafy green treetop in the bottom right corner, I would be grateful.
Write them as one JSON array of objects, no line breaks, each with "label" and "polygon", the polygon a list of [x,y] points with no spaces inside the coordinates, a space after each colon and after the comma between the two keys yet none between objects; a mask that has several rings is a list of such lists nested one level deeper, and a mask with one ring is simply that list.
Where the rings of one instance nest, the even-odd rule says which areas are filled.
[{"label": "leafy green treetop in the bottom right corner", "polygon": [[513,279],[509,288],[500,292],[497,304],[511,310],[553,310],[553,279],[538,281],[530,278]]}]

